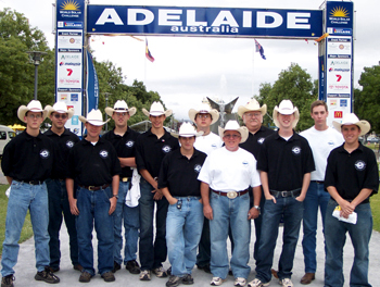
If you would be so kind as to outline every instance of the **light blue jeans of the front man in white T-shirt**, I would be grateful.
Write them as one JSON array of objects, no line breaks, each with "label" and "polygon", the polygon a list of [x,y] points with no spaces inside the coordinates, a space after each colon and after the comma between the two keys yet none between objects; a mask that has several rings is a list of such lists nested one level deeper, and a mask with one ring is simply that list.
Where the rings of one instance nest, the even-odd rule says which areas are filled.
[{"label": "light blue jeans of the front man in white T-shirt", "polygon": [[228,274],[227,237],[229,226],[232,232],[235,248],[231,257],[231,269],[235,277],[248,278],[251,267],[250,237],[251,221],[248,220],[250,211],[250,196],[245,194],[235,199],[211,192],[211,207],[213,220],[210,221],[211,236],[211,272],[215,277],[225,279]]}]

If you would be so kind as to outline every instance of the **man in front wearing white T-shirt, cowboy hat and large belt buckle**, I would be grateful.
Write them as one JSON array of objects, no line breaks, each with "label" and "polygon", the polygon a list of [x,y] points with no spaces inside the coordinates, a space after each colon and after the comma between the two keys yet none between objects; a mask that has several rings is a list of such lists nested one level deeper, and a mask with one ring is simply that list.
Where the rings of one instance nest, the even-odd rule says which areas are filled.
[{"label": "man in front wearing white T-shirt, cowboy hat and large belt buckle", "polygon": [[[239,148],[248,138],[248,128],[240,127],[237,121],[228,121],[219,127],[219,137],[225,147],[212,152],[205,160],[198,177],[201,183],[204,216],[210,220],[211,234],[211,285],[219,286],[227,277],[229,262],[227,236],[231,228],[235,248],[230,265],[235,286],[245,286],[251,267],[250,238],[251,219],[258,216],[250,209],[249,187],[259,199],[259,176],[256,160],[252,153]],[[211,192],[210,192],[211,190]]]}]

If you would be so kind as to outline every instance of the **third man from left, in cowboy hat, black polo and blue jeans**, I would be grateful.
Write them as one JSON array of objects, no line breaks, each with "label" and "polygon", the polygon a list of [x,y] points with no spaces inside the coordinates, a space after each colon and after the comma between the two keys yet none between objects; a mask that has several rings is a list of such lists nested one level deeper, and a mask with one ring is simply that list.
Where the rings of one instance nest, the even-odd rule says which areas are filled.
[{"label": "third man from left, in cowboy hat, black polo and blue jeans", "polygon": [[[69,152],[66,188],[71,212],[77,215],[79,282],[88,283],[96,275],[93,269],[92,229],[98,237],[98,272],[105,282],[114,282],[114,219],[121,163],[112,144],[99,137],[103,125],[101,111],[92,110],[79,116],[87,136]],[[74,180],[78,184],[74,198]],[[112,186],[112,188],[111,188]]]}]

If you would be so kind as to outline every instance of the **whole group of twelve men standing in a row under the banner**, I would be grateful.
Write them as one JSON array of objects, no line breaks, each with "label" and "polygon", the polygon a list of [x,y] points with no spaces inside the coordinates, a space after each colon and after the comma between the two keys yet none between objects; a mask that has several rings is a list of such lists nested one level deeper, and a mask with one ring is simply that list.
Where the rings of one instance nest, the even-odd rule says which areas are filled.
[{"label": "whole group of twelve men standing in a row under the banner", "polygon": [[[74,114],[63,102],[42,109],[33,100],[17,116],[26,129],[8,144],[1,167],[11,185],[1,287],[13,287],[18,239],[27,210],[35,236],[36,280],[59,283],[60,228],[69,235],[73,267],[79,282],[96,275],[92,232],[98,238],[98,272],[115,280],[123,264],[140,280],[168,277],[167,287],[194,284],[192,270],[212,273],[212,286],[233,275],[235,286],[268,286],[273,275],[292,287],[292,267],[303,222],[305,274],[315,279],[318,209],[325,235],[325,286],[343,286],[343,247],[349,232],[355,258],[351,286],[368,283],[368,246],[372,229],[369,197],[378,192],[375,153],[358,137],[370,125],[353,113],[327,125],[328,107],[311,107],[314,126],[296,134],[300,118],[290,100],[276,105],[277,132],[262,125],[267,112],[252,99],[240,105],[237,121],[211,132],[219,113],[208,104],[190,109],[194,123],[183,123],[174,137],[164,128],[172,114],[162,103],[143,109],[152,127],[139,135],[128,120],[136,113],[124,100],[105,112],[115,128],[100,136],[102,113],[79,116],[87,134],[65,128]],[[51,127],[41,134],[46,117]],[[342,136],[343,135],[343,136]],[[255,224],[255,278],[251,272],[251,220]],[[279,225],[283,245],[278,270],[273,269]],[[125,234],[122,235],[122,226]],[[231,258],[227,239],[231,241]],[[123,241],[125,241],[123,244]],[[124,254],[122,250],[124,247]],[[139,252],[140,265],[137,262]],[[168,257],[170,269],[164,270]]]}]

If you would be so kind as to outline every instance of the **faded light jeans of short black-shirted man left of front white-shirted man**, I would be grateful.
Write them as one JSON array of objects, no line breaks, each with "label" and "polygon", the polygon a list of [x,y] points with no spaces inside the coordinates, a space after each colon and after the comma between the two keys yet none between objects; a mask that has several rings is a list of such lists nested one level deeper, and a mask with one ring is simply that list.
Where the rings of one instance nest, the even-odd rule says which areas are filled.
[{"label": "faded light jeans of short black-shirted man left of front white-shirted man", "polygon": [[[191,274],[197,261],[197,248],[203,227],[201,197],[176,197],[181,201],[169,205],[166,217],[167,255],[172,275],[182,277]],[[178,203],[178,202],[177,202]]]}]

